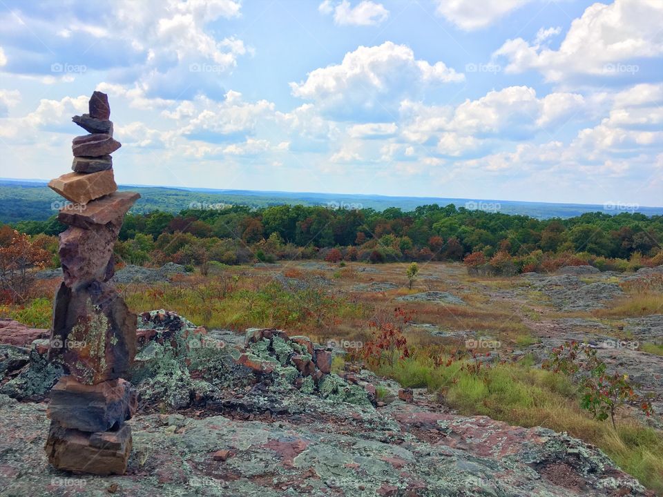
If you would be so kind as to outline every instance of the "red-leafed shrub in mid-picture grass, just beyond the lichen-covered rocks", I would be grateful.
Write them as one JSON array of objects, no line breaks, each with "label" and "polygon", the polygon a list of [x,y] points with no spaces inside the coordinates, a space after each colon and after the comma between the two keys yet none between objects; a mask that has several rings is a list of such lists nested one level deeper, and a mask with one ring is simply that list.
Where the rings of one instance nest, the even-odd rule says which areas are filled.
[{"label": "red-leafed shrub in mid-picture grass, just beyond the lichen-covered rocks", "polygon": [[403,335],[403,328],[410,321],[412,314],[396,307],[393,316],[385,319],[376,318],[369,322],[373,338],[364,344],[361,350],[363,359],[373,366],[379,367],[386,362],[390,367],[394,367],[396,360],[410,357],[407,339]]}]

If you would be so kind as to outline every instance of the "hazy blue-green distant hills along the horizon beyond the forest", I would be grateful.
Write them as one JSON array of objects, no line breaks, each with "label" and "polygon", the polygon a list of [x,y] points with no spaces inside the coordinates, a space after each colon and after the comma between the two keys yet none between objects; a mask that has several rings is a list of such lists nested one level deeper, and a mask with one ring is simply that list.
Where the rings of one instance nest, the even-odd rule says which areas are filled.
[{"label": "hazy blue-green distant hills along the horizon beyond the forest", "polygon": [[[215,190],[211,188],[180,188],[171,186],[120,185],[119,190],[137,191],[141,199],[132,208],[134,213],[167,211],[177,213],[185,208],[204,208],[215,204],[241,204],[266,207],[281,204],[322,205],[332,208],[385,208],[398,207],[412,211],[426,204],[481,208],[506,214],[522,214],[537,219],[574,217],[587,212],[617,214],[635,211],[645,215],[663,215],[663,207],[612,206],[592,204],[553,204],[546,202],[514,202],[494,199],[459,199],[437,197],[388,197],[385,195],[352,195],[338,193],[294,193],[280,191]],[[33,179],[0,179],[0,222],[46,220],[56,213],[64,199],[46,186],[46,182]]]}]

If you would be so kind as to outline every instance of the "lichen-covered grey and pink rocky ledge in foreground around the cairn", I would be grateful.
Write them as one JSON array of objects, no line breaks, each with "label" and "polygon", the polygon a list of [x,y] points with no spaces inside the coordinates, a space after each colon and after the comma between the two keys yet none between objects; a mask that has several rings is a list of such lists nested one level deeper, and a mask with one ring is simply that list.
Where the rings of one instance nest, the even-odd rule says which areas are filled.
[{"label": "lichen-covered grey and pink rocky ledge in foreground around the cairn", "polygon": [[138,322],[124,476],[48,465],[48,405],[21,401],[17,385],[48,397],[61,370],[44,367],[44,339],[0,346],[0,495],[653,495],[564,433],[457,416],[369,371],[333,373],[336,351],[305,337],[207,331],[167,311]]}]

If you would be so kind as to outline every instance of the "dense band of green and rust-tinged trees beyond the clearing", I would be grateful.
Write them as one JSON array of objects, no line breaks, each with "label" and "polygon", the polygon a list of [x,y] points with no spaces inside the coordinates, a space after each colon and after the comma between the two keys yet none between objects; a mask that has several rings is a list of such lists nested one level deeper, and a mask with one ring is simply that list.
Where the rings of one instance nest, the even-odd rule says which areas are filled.
[{"label": "dense band of green and rust-tinged trees beyond the clearing", "polygon": [[[57,235],[55,217],[13,225],[28,235]],[[331,262],[465,260],[475,271],[552,271],[593,264],[626,271],[663,263],[663,216],[586,213],[537,220],[470,211],[453,204],[374,211],[320,206],[231,206],[128,214],[115,248],[131,264],[206,266],[320,258]]]}]

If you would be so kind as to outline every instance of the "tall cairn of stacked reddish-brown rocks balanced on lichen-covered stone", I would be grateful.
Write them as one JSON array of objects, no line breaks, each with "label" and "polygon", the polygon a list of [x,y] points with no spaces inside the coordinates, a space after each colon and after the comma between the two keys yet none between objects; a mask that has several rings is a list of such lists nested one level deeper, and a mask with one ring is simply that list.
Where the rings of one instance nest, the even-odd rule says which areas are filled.
[{"label": "tall cairn of stacked reddish-brown rocks balanced on lichen-covered stone", "polygon": [[63,282],[55,294],[49,356],[66,369],[50,393],[46,454],[58,468],[98,475],[124,474],[131,428],[124,422],[137,407],[136,391],[123,380],[136,352],[136,315],[108,280],[113,245],[124,214],[140,198],[117,192],[111,153],[108,96],[95,91],[90,113],[73,121],[90,134],[73,139],[73,173],[48,186],[68,199],[58,220]]}]

